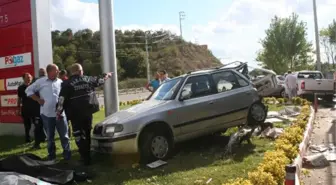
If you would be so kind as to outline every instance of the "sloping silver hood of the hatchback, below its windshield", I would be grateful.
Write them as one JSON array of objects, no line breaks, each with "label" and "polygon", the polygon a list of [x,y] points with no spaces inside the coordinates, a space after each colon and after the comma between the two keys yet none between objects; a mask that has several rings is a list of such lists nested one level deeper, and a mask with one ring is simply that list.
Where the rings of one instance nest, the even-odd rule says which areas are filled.
[{"label": "sloping silver hood of the hatchback, below its windshield", "polygon": [[108,117],[105,118],[105,120],[102,122],[102,124],[110,124],[110,123],[120,123],[125,121],[126,119],[129,119],[133,116],[143,114],[144,112],[149,112],[156,108],[157,106],[160,106],[162,104],[167,103],[167,101],[158,101],[158,100],[148,100],[144,101],[140,104],[134,105],[126,110],[118,111]]}]

